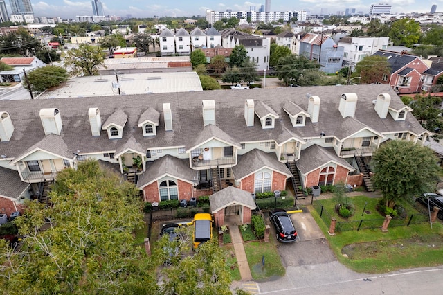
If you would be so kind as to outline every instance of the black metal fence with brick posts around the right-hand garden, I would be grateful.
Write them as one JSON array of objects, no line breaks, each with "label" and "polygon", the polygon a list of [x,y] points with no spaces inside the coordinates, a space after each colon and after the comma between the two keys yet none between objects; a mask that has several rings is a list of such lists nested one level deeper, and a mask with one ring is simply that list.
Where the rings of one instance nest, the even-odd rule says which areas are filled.
[{"label": "black metal fence with brick posts around the right-hand garden", "polygon": [[[325,222],[327,227],[331,226],[332,215],[326,211],[325,206],[320,201],[316,200],[313,204],[314,208],[320,215],[320,218]],[[350,220],[338,221],[336,223],[335,231],[359,231],[361,229],[377,229],[383,225],[384,218],[377,218],[373,220]],[[418,224],[421,222],[428,222],[429,215],[427,213],[414,213],[406,215],[405,217],[395,217],[389,222],[389,226],[409,226],[410,224]]]}]

